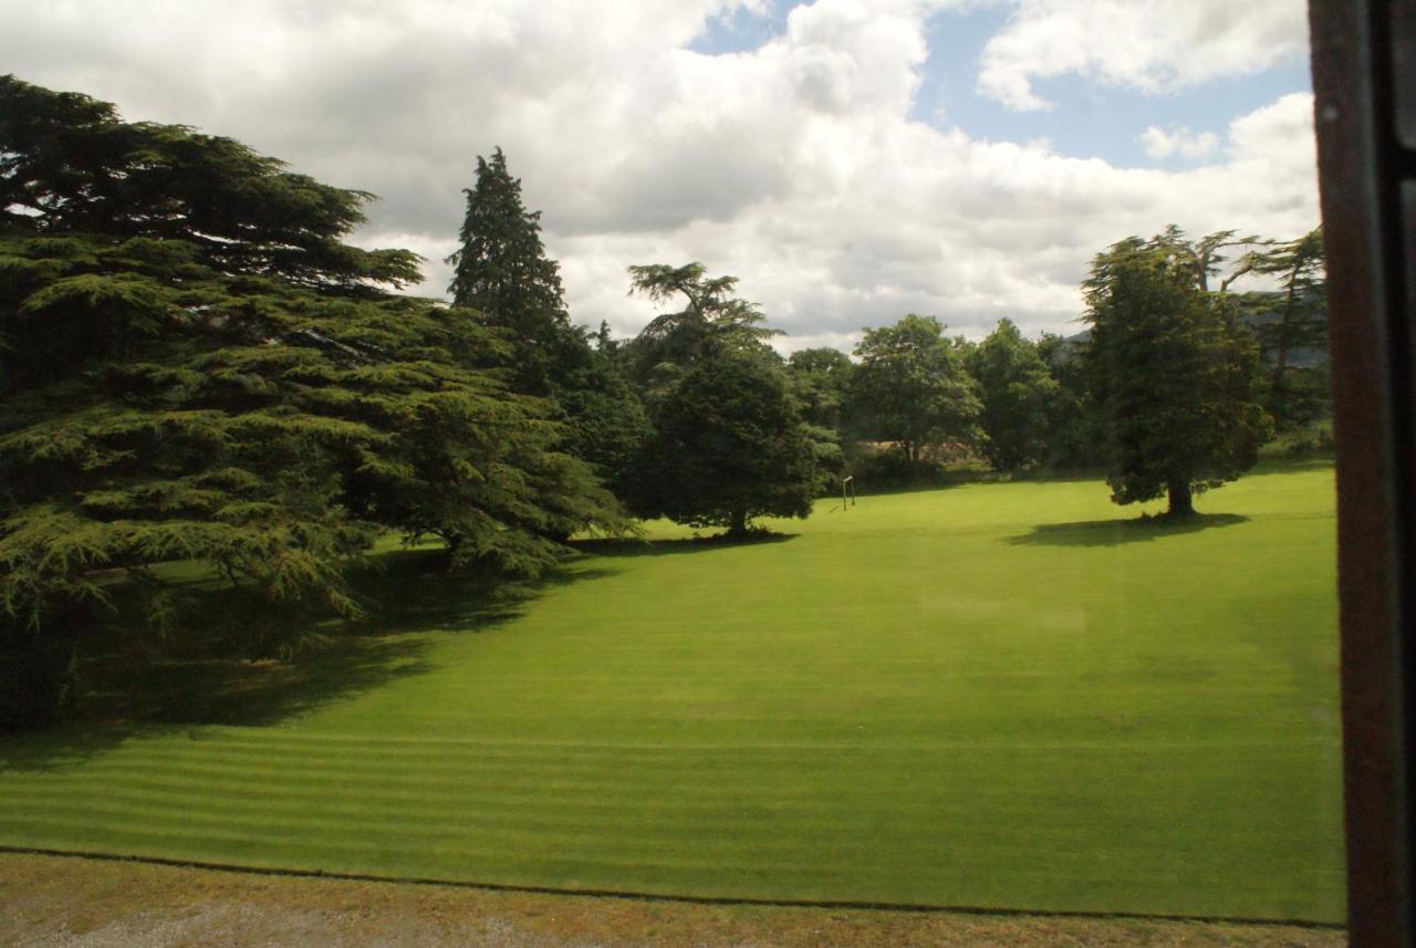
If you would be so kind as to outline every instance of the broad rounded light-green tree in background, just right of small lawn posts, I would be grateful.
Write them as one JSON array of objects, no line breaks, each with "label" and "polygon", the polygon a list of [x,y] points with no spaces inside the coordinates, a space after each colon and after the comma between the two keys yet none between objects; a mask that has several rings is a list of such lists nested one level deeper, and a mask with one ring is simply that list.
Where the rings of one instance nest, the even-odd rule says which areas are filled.
[{"label": "broad rounded light-green tree in background, just right of small lawn posts", "polygon": [[980,412],[959,347],[932,316],[865,330],[855,347],[852,400],[868,436],[896,441],[910,461],[926,446],[973,441]]}]

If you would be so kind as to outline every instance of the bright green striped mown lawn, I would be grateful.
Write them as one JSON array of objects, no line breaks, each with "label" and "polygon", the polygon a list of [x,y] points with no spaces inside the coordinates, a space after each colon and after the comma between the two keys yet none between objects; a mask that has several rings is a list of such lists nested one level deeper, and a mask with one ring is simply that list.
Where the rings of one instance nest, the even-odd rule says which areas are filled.
[{"label": "bright green striped mown lawn", "polygon": [[259,724],[0,743],[0,845],[1338,921],[1331,470],[1198,505],[980,484],[666,528],[501,610],[389,583],[429,608]]}]

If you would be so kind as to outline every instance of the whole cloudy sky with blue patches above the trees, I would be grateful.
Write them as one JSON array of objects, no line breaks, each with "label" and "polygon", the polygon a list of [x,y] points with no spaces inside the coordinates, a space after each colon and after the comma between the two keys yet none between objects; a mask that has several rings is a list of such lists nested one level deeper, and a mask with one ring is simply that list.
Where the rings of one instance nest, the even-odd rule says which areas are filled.
[{"label": "whole cloudy sky with blue patches above the trees", "polygon": [[0,0],[0,72],[381,195],[445,296],[501,147],[575,321],[702,262],[850,349],[906,313],[1075,333],[1110,243],[1318,224],[1303,0]]}]

